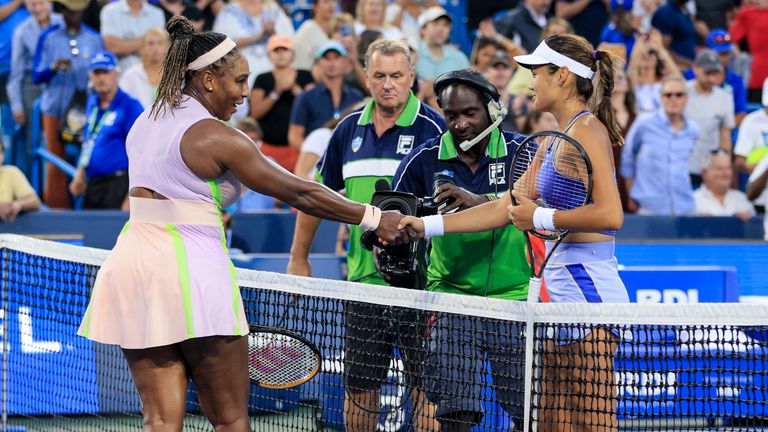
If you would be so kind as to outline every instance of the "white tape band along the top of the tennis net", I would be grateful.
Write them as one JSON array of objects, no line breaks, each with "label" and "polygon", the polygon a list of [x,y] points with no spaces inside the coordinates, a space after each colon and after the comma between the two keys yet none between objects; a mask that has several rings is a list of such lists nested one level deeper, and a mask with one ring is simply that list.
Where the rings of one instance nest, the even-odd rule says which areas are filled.
[{"label": "white tape band along the top of the tennis net", "polygon": [[[13,234],[0,234],[0,249],[3,248],[92,265],[101,265],[109,253],[103,249],[72,246]],[[528,321],[528,313],[532,312],[536,323],[768,325],[768,304],[761,303],[529,304],[335,280],[323,280],[323,283],[318,283],[317,278],[244,269],[237,270],[237,279],[243,288],[521,322]]]}]

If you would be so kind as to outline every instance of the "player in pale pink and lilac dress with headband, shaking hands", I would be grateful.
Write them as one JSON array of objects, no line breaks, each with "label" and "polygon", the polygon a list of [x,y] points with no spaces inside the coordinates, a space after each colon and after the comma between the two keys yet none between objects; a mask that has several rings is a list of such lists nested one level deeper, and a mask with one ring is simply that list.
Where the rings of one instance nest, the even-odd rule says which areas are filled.
[{"label": "player in pale pink and lilac dress with headband, shaking hands", "polygon": [[[349,201],[264,158],[229,120],[248,63],[220,33],[167,25],[158,96],[128,134],[130,219],[101,267],[79,334],[120,345],[144,431],[181,431],[189,379],[216,431],[248,431],[248,323],[221,209],[247,186],[398,241],[401,215]],[[264,229],[269,229],[264,227]]]}]

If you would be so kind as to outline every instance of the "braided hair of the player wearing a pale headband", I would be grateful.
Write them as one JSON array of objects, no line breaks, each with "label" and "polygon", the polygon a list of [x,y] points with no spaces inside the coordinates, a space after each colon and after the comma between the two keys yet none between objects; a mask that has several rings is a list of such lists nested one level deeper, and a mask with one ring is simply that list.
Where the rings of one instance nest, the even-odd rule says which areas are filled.
[{"label": "braided hair of the player wearing a pale headband", "polygon": [[240,55],[240,50],[235,47],[210,66],[195,71],[187,70],[188,64],[212,50],[226,39],[226,36],[210,31],[196,33],[192,23],[184,16],[171,18],[165,28],[171,38],[171,47],[163,61],[163,76],[157,87],[157,99],[150,111],[150,115],[155,118],[166,108],[179,106],[184,89],[189,86],[195,75],[210,70],[220,76],[230,62]]}]

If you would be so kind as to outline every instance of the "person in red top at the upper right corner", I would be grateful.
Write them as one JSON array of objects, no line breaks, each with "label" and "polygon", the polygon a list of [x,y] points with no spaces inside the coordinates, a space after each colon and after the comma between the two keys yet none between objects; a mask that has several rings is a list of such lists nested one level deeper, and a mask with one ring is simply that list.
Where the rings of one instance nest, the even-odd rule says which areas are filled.
[{"label": "person in red top at the upper right corner", "polygon": [[746,44],[752,54],[747,100],[760,103],[763,81],[768,78],[768,0],[754,0],[739,9],[728,33],[734,43]]}]

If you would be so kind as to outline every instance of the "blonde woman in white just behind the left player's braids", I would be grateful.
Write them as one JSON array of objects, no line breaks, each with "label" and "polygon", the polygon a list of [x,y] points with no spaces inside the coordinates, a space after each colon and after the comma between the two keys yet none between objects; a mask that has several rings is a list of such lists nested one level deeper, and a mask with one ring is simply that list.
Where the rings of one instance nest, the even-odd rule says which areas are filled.
[{"label": "blonde woman in white just behind the left player's braids", "polygon": [[138,99],[144,108],[149,108],[157,95],[163,60],[171,47],[171,41],[168,32],[161,28],[149,29],[142,40],[141,63],[121,72],[120,88]]}]

